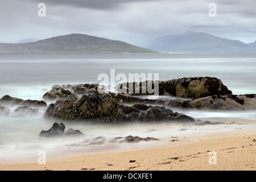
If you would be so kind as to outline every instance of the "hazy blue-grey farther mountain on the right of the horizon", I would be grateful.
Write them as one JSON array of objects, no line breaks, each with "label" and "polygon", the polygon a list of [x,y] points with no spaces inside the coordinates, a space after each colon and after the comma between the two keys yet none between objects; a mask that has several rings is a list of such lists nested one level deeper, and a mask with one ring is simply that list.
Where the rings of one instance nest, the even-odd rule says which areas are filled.
[{"label": "hazy blue-grey farther mountain on the right of the horizon", "polygon": [[147,42],[143,47],[161,52],[256,53],[253,44],[192,31],[159,37]]}]

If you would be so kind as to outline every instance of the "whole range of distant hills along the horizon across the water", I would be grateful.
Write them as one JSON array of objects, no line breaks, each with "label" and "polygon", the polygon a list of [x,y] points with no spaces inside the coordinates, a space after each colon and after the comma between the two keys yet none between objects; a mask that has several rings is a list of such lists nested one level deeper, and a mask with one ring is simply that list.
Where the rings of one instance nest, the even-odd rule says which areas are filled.
[{"label": "whole range of distant hills along the horizon across the water", "polygon": [[256,41],[246,44],[205,32],[187,31],[152,39],[140,47],[85,34],[60,35],[29,43],[0,43],[0,53],[85,52],[256,53]]}]

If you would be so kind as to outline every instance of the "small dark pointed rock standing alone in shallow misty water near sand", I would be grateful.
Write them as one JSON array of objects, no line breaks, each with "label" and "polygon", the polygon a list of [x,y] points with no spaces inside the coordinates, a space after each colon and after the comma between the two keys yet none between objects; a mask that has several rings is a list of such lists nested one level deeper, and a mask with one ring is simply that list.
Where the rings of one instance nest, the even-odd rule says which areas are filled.
[{"label": "small dark pointed rock standing alone in shallow misty water near sand", "polygon": [[42,130],[39,137],[58,137],[64,135],[65,125],[63,123],[53,123],[51,129],[44,131]]}]

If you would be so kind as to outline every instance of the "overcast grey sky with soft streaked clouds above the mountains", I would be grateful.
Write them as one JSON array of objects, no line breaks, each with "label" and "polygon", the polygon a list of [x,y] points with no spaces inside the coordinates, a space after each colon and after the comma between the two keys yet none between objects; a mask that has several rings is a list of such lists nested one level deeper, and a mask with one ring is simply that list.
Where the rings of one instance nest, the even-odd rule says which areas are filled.
[{"label": "overcast grey sky with soft streaked clouds above the mountains", "polygon": [[[39,17],[39,3],[46,16]],[[210,17],[209,4],[217,16]],[[256,0],[0,0],[0,42],[87,34],[138,44],[195,31],[256,40]]]}]

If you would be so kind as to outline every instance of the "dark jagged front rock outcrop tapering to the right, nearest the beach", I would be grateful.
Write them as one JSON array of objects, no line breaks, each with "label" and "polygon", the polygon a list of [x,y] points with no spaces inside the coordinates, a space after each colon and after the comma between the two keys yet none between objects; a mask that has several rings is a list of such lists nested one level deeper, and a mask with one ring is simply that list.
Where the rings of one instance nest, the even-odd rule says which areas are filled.
[{"label": "dark jagged front rock outcrop tapering to the right, nearest the beach", "polygon": [[67,98],[50,104],[45,118],[68,120],[87,120],[93,122],[154,122],[154,121],[184,121],[195,122],[195,119],[183,114],[174,113],[163,106],[119,106],[110,94],[84,94],[80,98],[72,94]]}]

